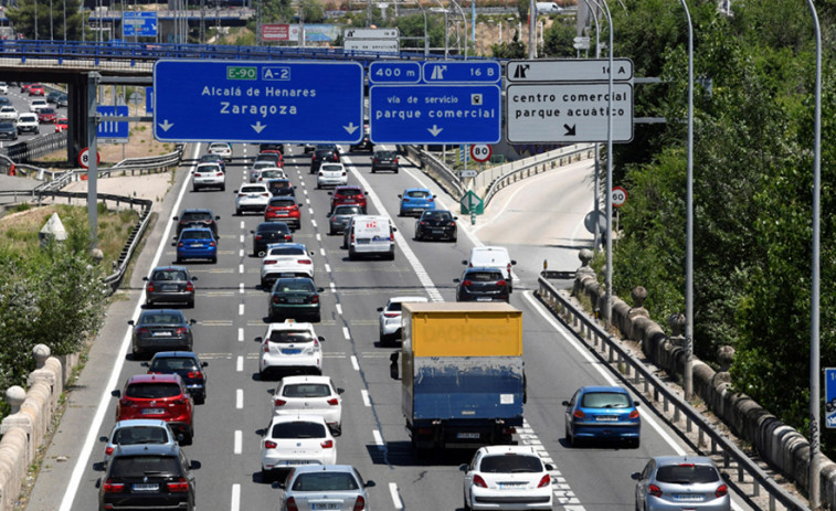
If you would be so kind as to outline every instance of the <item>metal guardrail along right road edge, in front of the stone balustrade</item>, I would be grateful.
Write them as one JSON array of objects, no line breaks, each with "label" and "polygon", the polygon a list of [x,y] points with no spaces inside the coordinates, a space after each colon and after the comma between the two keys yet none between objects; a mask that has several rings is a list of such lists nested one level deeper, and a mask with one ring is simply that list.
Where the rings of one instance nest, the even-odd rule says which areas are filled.
[{"label": "metal guardrail along right road edge, in front of the stone balustrade", "polygon": [[[653,387],[653,400],[662,402],[664,411],[667,413],[669,407],[674,407],[674,422],[679,422],[685,416],[686,430],[690,433],[696,426],[699,432],[699,445],[702,445],[705,438],[711,440],[711,453],[717,454],[718,448],[721,450],[724,467],[729,468],[730,460],[738,464],[738,480],[743,481],[744,473],[749,475],[753,481],[754,494],[760,496],[760,489],[763,488],[769,493],[770,509],[775,509],[775,502],[780,502],[790,510],[808,510],[801,500],[784,490],[772,477],[770,477],[761,467],[752,461],[745,453],[732,444],[724,435],[708,423],[702,415],[690,404],[682,401],[674,391],[656,375],[648,370],[645,364],[636,360],[633,354],[623,349],[615,342],[603,328],[601,328],[584,311],[576,309],[568,299],[565,299],[546,278],[542,276],[538,279],[540,285],[537,292],[538,298],[550,307],[555,316],[561,318],[567,326],[573,330],[580,329],[579,338],[588,343],[599,356],[606,358],[609,363],[616,363],[621,369],[620,377],[627,385],[637,388],[643,387],[646,396],[649,394],[649,387]],[[601,351],[597,351],[600,348]]]}]

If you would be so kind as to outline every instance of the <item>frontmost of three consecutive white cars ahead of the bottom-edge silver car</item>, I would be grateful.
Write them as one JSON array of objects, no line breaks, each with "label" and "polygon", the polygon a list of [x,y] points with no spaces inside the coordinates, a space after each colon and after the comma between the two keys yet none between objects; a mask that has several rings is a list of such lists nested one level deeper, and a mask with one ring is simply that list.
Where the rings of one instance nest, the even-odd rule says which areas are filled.
[{"label": "frontmost of three consecutive white cars ahead of the bottom-edge silver car", "polygon": [[292,319],[267,324],[258,354],[258,374],[271,373],[322,374],[324,337],[317,337],[313,323],[297,323]]}]

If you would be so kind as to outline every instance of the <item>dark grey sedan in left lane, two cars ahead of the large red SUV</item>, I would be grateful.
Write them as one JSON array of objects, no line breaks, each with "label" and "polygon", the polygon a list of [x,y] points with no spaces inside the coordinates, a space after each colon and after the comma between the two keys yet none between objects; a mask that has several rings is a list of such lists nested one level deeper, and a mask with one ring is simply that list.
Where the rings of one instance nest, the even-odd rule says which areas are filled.
[{"label": "dark grey sedan in left lane, two cars ahead of the large red SUV", "polygon": [[183,350],[192,351],[194,340],[191,327],[195,321],[186,320],[183,312],[176,309],[148,309],[139,315],[139,320],[128,321],[134,327],[130,340],[135,356],[146,352]]}]

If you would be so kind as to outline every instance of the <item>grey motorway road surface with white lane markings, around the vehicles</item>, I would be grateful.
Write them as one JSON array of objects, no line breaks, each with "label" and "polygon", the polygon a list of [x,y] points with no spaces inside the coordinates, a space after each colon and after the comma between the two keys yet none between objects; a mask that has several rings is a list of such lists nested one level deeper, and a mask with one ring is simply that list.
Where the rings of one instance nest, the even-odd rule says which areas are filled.
[{"label": "grey motorway road surface with white lane markings, around the vehicles", "polygon": [[[205,146],[191,147],[197,157]],[[78,390],[70,396],[67,416],[84,417],[62,423],[54,446],[47,451],[30,509],[89,510],[97,507],[97,483],[104,472],[104,444],[99,437],[114,424],[115,398],[139,363],[126,359],[129,330],[125,321],[135,317],[141,304],[141,275],[158,264],[174,262],[170,216],[186,207],[211,207],[219,222],[220,255],[215,265],[188,263],[198,275],[194,309],[195,351],[209,362],[207,404],[195,407],[194,444],[184,448],[201,462],[197,470],[198,509],[276,509],[276,490],[262,481],[260,428],[266,426],[271,392],[275,381],[258,377],[254,338],[266,329],[267,294],[257,287],[260,259],[253,257],[250,230],[261,215],[234,215],[232,190],[246,180],[245,164],[257,146],[235,145],[227,166],[226,192],[192,192],[178,170],[177,185],[169,193],[154,231],[138,262],[129,300],[117,304],[91,353]],[[315,251],[317,285],[324,287],[322,321],[316,324],[324,344],[324,372],[345,388],[342,435],[337,437],[338,462],[354,465],[362,476],[377,482],[371,488],[375,510],[463,509],[459,464],[469,453],[448,451],[419,459],[410,446],[401,414],[400,382],[390,377],[392,348],[380,348],[377,308],[390,296],[423,294],[431,300],[453,300],[453,278],[463,268],[472,246],[502,244],[509,247],[520,284],[511,304],[523,311],[525,360],[528,375],[526,426],[520,444],[540,446],[541,456],[552,462],[555,509],[632,510],[634,481],[647,459],[658,455],[685,454],[675,432],[652,411],[642,407],[644,425],[638,449],[618,446],[570,448],[563,438],[563,407],[584,384],[614,384],[613,373],[578,344],[531,295],[542,260],[550,268],[574,269],[576,252],[591,244],[582,226],[592,205],[589,162],[548,172],[510,187],[495,199],[488,214],[472,227],[462,224],[456,244],[415,242],[414,219],[396,217],[398,194],[405,188],[426,185],[438,193],[442,205],[457,211],[443,192],[414,168],[398,174],[371,174],[368,153],[343,156],[350,168],[350,184],[363,185],[370,195],[369,212],[390,215],[398,227],[394,260],[356,260],[340,248],[341,236],[328,236],[326,213],[329,196],[315,190],[308,173],[309,158],[293,148],[286,155],[288,178],[297,184],[297,200],[304,204],[301,228],[294,241]],[[187,166],[188,167],[188,166]],[[173,196],[171,196],[173,195]],[[169,214],[165,207],[172,207]],[[478,236],[478,237],[477,237]],[[109,337],[108,337],[109,336]],[[103,341],[103,338],[104,341]],[[113,368],[113,369],[112,369]],[[92,429],[91,429],[92,428]],[[60,446],[60,447],[55,447]],[[66,461],[55,462],[55,448],[63,448]],[[60,503],[60,507],[59,507]],[[736,509],[749,509],[743,504]]]}]

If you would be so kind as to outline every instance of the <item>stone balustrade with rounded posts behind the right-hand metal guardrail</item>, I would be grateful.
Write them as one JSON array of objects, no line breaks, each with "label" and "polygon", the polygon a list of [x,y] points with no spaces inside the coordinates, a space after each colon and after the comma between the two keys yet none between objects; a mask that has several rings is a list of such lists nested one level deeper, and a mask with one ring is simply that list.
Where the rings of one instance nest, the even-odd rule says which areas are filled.
[{"label": "stone balustrade with rounded posts behind the right-hand metal guardrail", "polygon": [[[635,298],[634,290],[634,298]],[[604,309],[605,290],[591,272],[578,274],[573,295],[585,296],[597,310]],[[639,341],[642,350],[669,375],[680,377],[685,368],[685,350],[646,316],[631,315],[631,308],[612,297],[612,324],[623,338]],[[634,301],[636,301],[634,299]],[[694,392],[726,423],[736,436],[751,443],[762,459],[795,483],[805,494],[809,489],[809,441],[742,393],[729,391],[728,373],[718,373],[702,361],[694,360]],[[822,456],[822,505],[836,509],[836,464]]]}]

